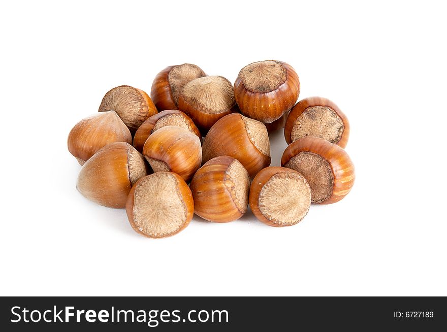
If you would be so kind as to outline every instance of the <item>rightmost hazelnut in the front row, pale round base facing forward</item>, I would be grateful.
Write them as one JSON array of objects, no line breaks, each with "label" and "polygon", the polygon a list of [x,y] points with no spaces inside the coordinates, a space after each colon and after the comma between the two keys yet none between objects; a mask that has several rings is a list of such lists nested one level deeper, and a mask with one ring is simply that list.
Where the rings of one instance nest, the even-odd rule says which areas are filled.
[{"label": "rightmost hazelnut in the front row, pale round base facing forward", "polygon": [[310,208],[311,193],[306,179],[283,167],[267,167],[254,177],[250,187],[250,209],[269,226],[292,226]]}]

